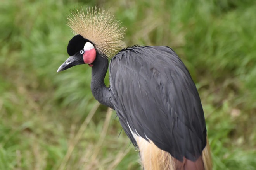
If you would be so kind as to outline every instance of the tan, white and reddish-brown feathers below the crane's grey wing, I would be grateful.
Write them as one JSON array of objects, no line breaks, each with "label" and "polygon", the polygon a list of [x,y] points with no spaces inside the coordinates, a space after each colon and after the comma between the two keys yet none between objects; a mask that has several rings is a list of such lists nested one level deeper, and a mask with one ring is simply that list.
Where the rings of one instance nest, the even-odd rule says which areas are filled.
[{"label": "tan, white and reddish-brown feathers below the crane's grey wing", "polygon": [[159,149],[152,141],[132,133],[140,151],[140,159],[144,170],[211,170],[211,153],[209,142],[195,162],[183,158],[183,162],[173,158],[170,153]]}]

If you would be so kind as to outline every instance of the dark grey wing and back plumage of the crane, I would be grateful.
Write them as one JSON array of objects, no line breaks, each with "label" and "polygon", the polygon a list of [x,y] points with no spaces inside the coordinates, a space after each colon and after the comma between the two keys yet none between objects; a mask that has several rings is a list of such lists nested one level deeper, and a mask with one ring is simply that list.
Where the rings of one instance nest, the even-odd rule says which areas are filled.
[{"label": "dark grey wing and back plumage of the crane", "polygon": [[204,112],[189,71],[168,47],[132,47],[111,59],[110,88],[119,121],[182,161],[206,146]]}]

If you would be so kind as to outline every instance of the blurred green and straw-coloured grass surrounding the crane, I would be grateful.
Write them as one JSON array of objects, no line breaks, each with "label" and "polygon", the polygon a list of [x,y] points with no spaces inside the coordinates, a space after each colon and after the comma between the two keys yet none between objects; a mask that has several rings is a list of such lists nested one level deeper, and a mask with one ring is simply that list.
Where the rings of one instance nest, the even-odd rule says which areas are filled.
[{"label": "blurred green and straw-coloured grass surrounding the crane", "polygon": [[110,10],[129,46],[172,47],[199,90],[214,170],[256,169],[255,0],[2,0],[0,170],[140,169],[93,99],[91,69],[56,73],[73,37],[66,16],[81,6]]}]

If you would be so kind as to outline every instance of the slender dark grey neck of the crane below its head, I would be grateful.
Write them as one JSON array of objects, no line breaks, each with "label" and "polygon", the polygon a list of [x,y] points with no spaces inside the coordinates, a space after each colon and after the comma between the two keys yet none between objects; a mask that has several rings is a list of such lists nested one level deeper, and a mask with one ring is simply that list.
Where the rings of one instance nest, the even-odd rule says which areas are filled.
[{"label": "slender dark grey neck of the crane below its head", "polygon": [[104,78],[107,73],[108,59],[97,54],[92,66],[92,82],[91,90],[96,100],[107,107],[113,108],[110,102],[111,92],[109,87],[106,87]]}]

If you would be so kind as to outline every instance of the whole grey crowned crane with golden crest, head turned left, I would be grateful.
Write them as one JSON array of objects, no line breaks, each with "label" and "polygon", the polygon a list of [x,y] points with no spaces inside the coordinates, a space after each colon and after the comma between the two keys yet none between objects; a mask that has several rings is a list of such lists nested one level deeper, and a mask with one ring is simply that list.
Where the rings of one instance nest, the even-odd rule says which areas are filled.
[{"label": "whole grey crowned crane with golden crest, head turned left", "polygon": [[178,55],[164,46],[124,48],[124,29],[108,12],[77,10],[68,20],[76,36],[57,72],[92,67],[93,96],[116,111],[144,170],[211,170],[201,100]]}]

